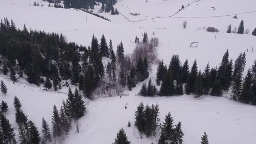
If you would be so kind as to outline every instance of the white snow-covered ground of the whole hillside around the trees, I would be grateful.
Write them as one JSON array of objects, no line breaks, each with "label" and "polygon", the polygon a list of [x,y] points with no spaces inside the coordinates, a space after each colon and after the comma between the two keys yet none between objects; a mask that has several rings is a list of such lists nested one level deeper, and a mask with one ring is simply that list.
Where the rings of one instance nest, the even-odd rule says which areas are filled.
[{"label": "white snow-covered ground of the whole hillside around the trees", "polygon": [[[226,33],[229,24],[232,28],[238,27],[241,20],[244,20],[245,29],[253,31],[256,27],[255,0],[148,0],[148,3],[145,2],[146,0],[119,0],[115,6],[118,11],[130,21],[142,20],[138,22],[129,22],[121,14],[113,16],[109,13],[98,13],[111,20],[108,22],[80,10],[47,7],[48,3],[41,0],[36,2],[39,2],[39,5],[44,3],[44,7],[33,6],[34,1],[0,0],[0,19],[4,17],[13,19],[20,29],[25,23],[31,29],[63,33],[68,41],[85,46],[90,45],[92,34],[98,39],[104,34],[107,41],[112,39],[114,49],[123,41],[125,53],[132,52],[135,36],[141,40],[143,32],[146,31],[150,38],[159,38],[158,57],[166,64],[170,62],[173,54],[179,54],[181,62],[188,59],[190,66],[194,59],[197,59],[198,68],[201,70],[207,62],[210,62],[211,67],[219,65],[226,49],[229,49],[230,58],[234,60],[240,52],[249,49],[249,52],[246,52],[246,69],[251,67],[256,59],[256,50],[250,52],[251,48],[256,46],[256,36],[251,36],[251,33],[249,35]],[[188,7],[177,13],[182,4],[187,6],[189,3],[191,4]],[[94,13],[97,13],[100,7],[95,7]],[[215,7],[216,10],[211,7]],[[130,13],[141,15],[132,16]],[[175,14],[173,17],[168,17],[173,14]],[[237,14],[238,19],[224,16],[230,14]],[[182,28],[184,20],[187,21],[186,29]],[[203,29],[208,26],[219,29],[220,33],[217,33],[216,40],[215,33],[208,33]],[[192,42],[199,42],[198,47],[190,48]],[[156,65],[153,65],[150,74],[153,82],[155,73]],[[20,98],[23,111],[39,129],[42,116],[50,124],[53,105],[59,108],[62,99],[67,97],[67,88],[62,88],[59,93],[45,92],[43,87],[29,85],[22,79],[16,84],[3,76],[0,76],[0,79],[3,79],[8,88],[6,96],[0,94],[0,100],[7,101],[9,105],[7,118],[15,127],[14,95]],[[66,143],[109,144],[114,141],[116,133],[123,127],[132,144],[152,142],[156,144],[158,137],[151,139],[143,136],[141,139],[138,130],[133,126],[135,109],[141,101],[144,101],[144,104],[149,105],[159,103],[161,122],[164,121],[164,115],[168,111],[171,111],[175,124],[177,121],[182,121],[184,144],[200,143],[203,131],[207,131],[211,144],[254,144],[252,137],[256,133],[255,106],[223,97],[202,96],[194,99],[192,95],[155,98],[135,96],[140,87],[141,84],[138,84],[131,92],[125,91],[129,95],[122,98],[86,100],[87,115],[79,120],[81,133],[75,134],[73,129],[66,138]],[[125,110],[126,103],[128,109]],[[127,127],[128,121],[132,123],[131,128]]]}]

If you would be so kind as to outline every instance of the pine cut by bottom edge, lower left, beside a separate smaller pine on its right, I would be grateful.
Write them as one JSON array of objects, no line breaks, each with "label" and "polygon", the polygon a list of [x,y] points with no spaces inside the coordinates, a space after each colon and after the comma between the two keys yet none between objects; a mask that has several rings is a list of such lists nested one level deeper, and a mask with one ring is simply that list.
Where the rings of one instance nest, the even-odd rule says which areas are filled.
[{"label": "pine cut by bottom edge, lower left, beside a separate smaller pine on its right", "polygon": [[39,144],[41,137],[39,137],[39,131],[33,121],[28,121],[28,128],[30,134],[30,144]]}]

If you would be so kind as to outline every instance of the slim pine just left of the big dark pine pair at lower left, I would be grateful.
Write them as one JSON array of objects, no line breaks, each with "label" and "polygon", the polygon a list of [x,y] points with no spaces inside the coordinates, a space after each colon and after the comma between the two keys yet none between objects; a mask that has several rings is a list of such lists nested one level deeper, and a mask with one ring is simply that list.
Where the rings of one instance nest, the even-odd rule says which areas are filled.
[{"label": "slim pine just left of the big dark pine pair at lower left", "polygon": [[53,106],[52,124],[53,124],[53,137],[59,137],[61,135],[61,120],[60,120],[59,111],[56,108],[56,105]]}]

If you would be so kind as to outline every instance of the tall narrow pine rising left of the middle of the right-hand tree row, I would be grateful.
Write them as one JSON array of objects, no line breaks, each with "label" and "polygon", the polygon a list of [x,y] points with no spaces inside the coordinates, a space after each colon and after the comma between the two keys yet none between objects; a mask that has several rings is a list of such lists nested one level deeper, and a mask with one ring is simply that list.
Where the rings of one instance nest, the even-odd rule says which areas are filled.
[{"label": "tall narrow pine rising left of the middle of the right-hand tree row", "polygon": [[191,71],[187,78],[187,84],[185,85],[185,90],[187,95],[189,95],[190,92],[195,92],[196,79],[197,79],[197,60],[194,61]]}]

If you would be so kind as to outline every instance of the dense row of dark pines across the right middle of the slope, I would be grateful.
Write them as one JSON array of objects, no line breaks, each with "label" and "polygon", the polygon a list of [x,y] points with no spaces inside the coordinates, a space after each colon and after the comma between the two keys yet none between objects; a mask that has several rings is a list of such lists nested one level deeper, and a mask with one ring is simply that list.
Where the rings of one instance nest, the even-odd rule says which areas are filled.
[{"label": "dense row of dark pines across the right middle of the slope", "polygon": [[[203,72],[197,69],[197,60],[189,69],[188,60],[181,65],[178,55],[173,55],[167,68],[163,60],[158,63],[156,84],[161,85],[158,92],[149,81],[149,91],[146,85],[141,87],[140,95],[143,96],[171,96],[194,94],[195,98],[201,95],[221,96],[231,87],[231,98],[247,104],[256,105],[256,60],[252,68],[249,68],[245,78],[243,72],[246,65],[246,53],[240,53],[235,62],[229,59],[229,51],[226,50],[218,67],[210,68],[207,63]],[[151,88],[152,87],[152,88]]]}]

